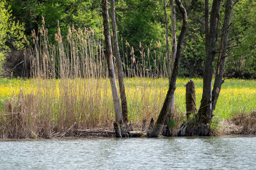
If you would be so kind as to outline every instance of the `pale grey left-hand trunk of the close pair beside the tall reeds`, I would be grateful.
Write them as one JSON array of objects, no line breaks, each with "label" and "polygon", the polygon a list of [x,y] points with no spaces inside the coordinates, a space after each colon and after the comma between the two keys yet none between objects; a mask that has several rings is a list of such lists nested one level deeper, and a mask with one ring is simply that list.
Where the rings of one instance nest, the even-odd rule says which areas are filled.
[{"label": "pale grey left-hand trunk of the close pair beside the tall reeds", "polygon": [[111,48],[111,38],[110,38],[110,29],[109,29],[109,15],[108,15],[108,0],[102,0],[102,17],[103,17],[103,26],[104,26],[104,36],[106,43],[105,55],[108,63],[108,72],[109,72],[109,81],[111,84],[111,91],[113,96],[114,108],[115,108],[115,117],[117,123],[123,123],[123,116],[121,111],[120,99],[118,96],[118,90],[116,86],[115,78],[115,68],[113,64],[113,53]]}]

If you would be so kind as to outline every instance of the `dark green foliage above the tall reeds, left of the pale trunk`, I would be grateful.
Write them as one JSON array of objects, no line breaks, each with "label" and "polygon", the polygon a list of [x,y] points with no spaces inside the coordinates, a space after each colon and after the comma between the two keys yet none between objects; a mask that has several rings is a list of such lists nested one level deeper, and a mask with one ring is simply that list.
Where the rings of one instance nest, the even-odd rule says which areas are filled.
[{"label": "dark green foliage above the tall reeds, left of the pale trunk", "polygon": [[[55,43],[54,34],[58,32],[58,22],[61,35],[67,36],[68,27],[92,27],[95,35],[101,36],[102,17],[97,11],[100,2],[96,0],[10,0],[13,15],[17,20],[26,23],[26,35],[29,38],[31,31],[42,27],[42,16],[45,26],[51,36],[51,43]],[[26,14],[26,15],[25,15]],[[27,15],[29,14],[29,15]]]}]

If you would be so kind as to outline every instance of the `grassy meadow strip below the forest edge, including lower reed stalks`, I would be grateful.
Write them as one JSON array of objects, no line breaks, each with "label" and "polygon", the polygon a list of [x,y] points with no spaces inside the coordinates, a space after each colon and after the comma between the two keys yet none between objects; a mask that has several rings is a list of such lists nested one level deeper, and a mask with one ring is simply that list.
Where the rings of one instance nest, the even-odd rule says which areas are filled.
[{"label": "grassy meadow strip below the forest edge, including lower reed stalks", "polygon": [[[202,79],[192,79],[200,106]],[[179,78],[175,112],[186,115],[185,84]],[[108,79],[0,79],[1,137],[49,137],[76,129],[111,127],[115,120]],[[214,120],[233,118],[256,108],[256,81],[227,79],[214,111]],[[157,118],[168,89],[168,79],[125,79],[129,120],[134,127]],[[68,132],[67,132],[68,130]]]}]

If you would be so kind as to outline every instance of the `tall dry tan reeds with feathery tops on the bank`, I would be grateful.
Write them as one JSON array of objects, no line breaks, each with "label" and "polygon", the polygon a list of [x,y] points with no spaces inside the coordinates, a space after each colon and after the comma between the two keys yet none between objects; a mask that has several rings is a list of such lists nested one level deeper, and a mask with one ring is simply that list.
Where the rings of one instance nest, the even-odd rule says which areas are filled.
[{"label": "tall dry tan reeds with feathery tops on the bank", "polygon": [[[33,86],[20,88],[4,102],[0,137],[77,136],[81,135],[79,129],[112,127],[115,116],[103,39],[97,38],[92,28],[82,30],[74,26],[68,29],[67,38],[63,38],[58,27],[56,44],[52,44],[44,20],[38,34],[33,31],[32,37],[33,43],[26,52]],[[128,42],[122,45],[127,77],[167,75],[164,66],[167,59],[161,54],[159,42],[159,53],[150,51],[152,44],[143,47],[140,43],[140,56],[135,56],[134,47]],[[127,92],[129,119],[134,127],[140,126],[144,118],[156,118],[163,100],[159,94],[148,98],[145,90],[148,84],[144,85],[132,89],[136,93]],[[164,97],[165,89],[159,93]]]}]

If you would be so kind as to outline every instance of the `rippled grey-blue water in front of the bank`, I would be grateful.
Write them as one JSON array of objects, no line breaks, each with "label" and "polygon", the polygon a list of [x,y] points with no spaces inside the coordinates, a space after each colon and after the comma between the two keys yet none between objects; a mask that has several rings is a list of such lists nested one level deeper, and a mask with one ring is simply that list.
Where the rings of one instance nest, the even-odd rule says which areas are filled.
[{"label": "rippled grey-blue water in front of the bank", "polygon": [[0,169],[255,169],[256,137],[0,141]]}]

